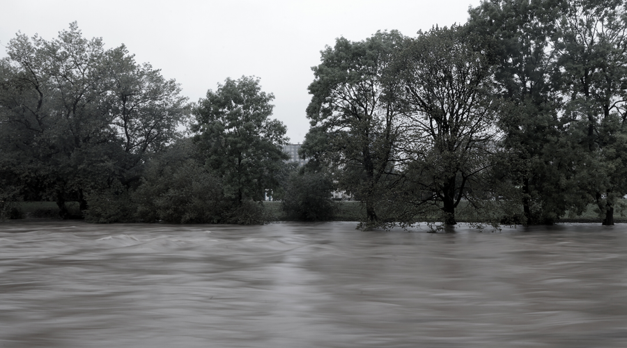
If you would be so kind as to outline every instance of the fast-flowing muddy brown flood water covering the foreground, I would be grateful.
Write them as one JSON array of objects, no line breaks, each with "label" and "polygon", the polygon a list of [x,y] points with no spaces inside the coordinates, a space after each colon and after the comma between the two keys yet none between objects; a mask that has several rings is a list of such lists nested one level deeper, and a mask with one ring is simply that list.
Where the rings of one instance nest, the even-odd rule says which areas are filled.
[{"label": "fast-flowing muddy brown flood water covering the foreground", "polygon": [[0,223],[0,347],[627,347],[627,226]]}]

